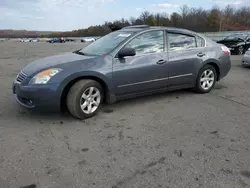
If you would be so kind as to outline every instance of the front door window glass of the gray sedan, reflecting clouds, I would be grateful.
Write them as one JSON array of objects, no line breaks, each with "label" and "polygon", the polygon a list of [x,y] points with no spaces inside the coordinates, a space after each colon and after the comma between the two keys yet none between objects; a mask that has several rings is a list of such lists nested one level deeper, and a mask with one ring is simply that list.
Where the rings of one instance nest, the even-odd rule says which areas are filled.
[{"label": "front door window glass of the gray sedan, reflecting clouds", "polygon": [[134,48],[136,54],[147,54],[164,51],[164,34],[163,31],[150,31],[143,33],[133,40],[131,40],[126,46]]}]

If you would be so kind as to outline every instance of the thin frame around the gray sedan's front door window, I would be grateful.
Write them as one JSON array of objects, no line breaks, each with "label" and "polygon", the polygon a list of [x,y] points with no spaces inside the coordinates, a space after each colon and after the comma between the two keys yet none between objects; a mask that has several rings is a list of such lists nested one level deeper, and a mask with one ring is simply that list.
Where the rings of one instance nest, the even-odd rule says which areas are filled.
[{"label": "thin frame around the gray sedan's front door window", "polygon": [[[138,37],[138,36],[140,36],[140,35],[142,35],[142,34],[144,34],[144,33],[148,33],[148,32],[153,32],[153,31],[162,31],[163,32],[163,52],[156,52],[156,53],[165,53],[166,52],[166,43],[165,43],[165,41],[166,41],[166,35],[165,35],[165,30],[163,30],[163,29],[155,29],[155,30],[147,30],[147,31],[143,31],[143,32],[140,32],[140,33],[138,33],[138,34],[136,34],[135,36],[133,36],[133,37],[131,37],[130,39],[128,39],[124,44],[122,44],[122,46],[120,46],[117,50],[116,50],[116,52],[115,52],[115,58],[118,58],[118,52],[122,49],[122,48],[124,48],[127,44],[129,44],[133,39],[135,39],[136,37]],[[154,54],[154,53],[147,53],[147,54],[139,54],[139,55],[135,55],[135,56],[133,56],[133,57],[137,57],[137,56],[143,56],[143,55],[150,55],[150,54]]]}]

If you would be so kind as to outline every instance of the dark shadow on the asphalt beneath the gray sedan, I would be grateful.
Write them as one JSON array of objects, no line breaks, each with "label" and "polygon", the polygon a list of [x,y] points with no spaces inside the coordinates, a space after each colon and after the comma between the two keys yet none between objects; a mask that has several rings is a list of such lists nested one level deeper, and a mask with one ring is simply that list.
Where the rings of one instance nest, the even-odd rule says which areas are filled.
[{"label": "dark shadow on the asphalt beneath the gray sedan", "polygon": [[[223,86],[223,84],[217,83],[214,89],[223,89],[226,88]],[[119,112],[119,109],[122,108],[133,108],[137,105],[143,105],[145,103],[159,103],[161,101],[166,100],[181,100],[182,97],[187,96],[194,96],[194,95],[200,95],[195,93],[192,89],[181,89],[181,90],[175,90],[175,91],[169,91],[164,93],[157,93],[142,97],[136,97],[131,99],[125,99],[121,101],[117,101],[114,104],[103,104],[98,114],[93,118],[98,118],[101,114],[107,114],[107,113],[113,113],[113,112]],[[46,120],[47,122],[57,122],[60,123],[63,122],[72,122],[72,121],[81,121],[71,116],[69,112],[39,112],[39,111],[32,111],[25,109],[23,107],[17,107],[17,113],[19,114],[20,118],[23,119],[29,119],[30,121],[39,121],[39,120]]]}]

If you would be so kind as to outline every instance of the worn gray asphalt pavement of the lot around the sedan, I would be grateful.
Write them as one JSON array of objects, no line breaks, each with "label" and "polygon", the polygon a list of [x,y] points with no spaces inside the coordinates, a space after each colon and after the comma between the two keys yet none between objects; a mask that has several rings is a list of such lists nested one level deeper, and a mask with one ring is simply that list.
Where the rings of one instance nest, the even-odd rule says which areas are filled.
[{"label": "worn gray asphalt pavement of the lot around the sedan", "polygon": [[105,105],[80,121],[30,112],[12,82],[29,62],[83,43],[0,43],[0,188],[250,187],[250,69],[209,94],[180,90]]}]

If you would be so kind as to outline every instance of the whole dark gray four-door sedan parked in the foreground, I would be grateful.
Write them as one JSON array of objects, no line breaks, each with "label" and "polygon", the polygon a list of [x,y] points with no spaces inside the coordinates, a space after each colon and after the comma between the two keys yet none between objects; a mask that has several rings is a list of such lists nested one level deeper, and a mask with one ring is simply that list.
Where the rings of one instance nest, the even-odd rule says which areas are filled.
[{"label": "whole dark gray four-door sedan parked in the foreground", "polygon": [[85,119],[103,102],[181,88],[208,93],[231,68],[230,51],[192,31],[130,26],[87,47],[24,67],[13,93],[26,108]]}]

